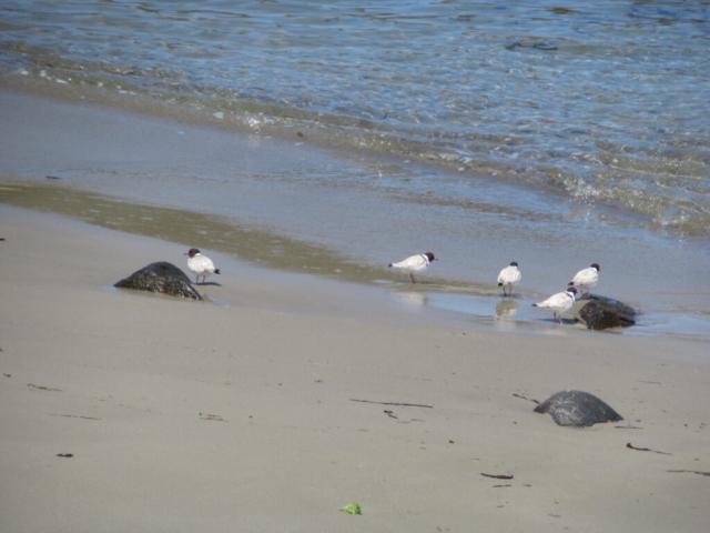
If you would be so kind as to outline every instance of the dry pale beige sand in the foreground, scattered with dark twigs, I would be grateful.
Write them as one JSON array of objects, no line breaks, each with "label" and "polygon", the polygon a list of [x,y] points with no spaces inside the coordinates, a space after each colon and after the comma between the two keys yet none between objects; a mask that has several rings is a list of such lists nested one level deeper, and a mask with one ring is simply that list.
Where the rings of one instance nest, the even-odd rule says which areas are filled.
[{"label": "dry pale beige sand in the foreground, scattered with dark twigs", "polygon": [[[366,318],[227,258],[213,302],[119,292],[182,245],[2,205],[0,238],[3,532],[710,524],[707,343]],[[513,395],[564,389],[625,422],[559,428]]]}]

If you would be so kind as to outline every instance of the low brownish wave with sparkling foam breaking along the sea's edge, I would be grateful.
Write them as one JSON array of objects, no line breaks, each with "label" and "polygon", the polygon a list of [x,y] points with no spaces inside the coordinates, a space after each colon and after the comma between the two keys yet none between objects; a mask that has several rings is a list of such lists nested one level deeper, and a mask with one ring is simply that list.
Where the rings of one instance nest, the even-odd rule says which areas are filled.
[{"label": "low brownish wave with sparkling foam breaking along the sea's edge", "polygon": [[598,137],[592,128],[568,129],[545,142],[534,123],[515,133],[462,133],[437,128],[446,124],[412,124],[387,113],[375,118],[363,118],[352,109],[326,113],[303,102],[290,105],[267,95],[243,95],[194,84],[179,72],[67,60],[18,43],[2,48],[3,77],[20,73],[29,82],[68,86],[63,91],[74,88],[78,98],[83,89],[100,89],[106,99],[132,95],[141,105],[168,104],[175,114],[219,122],[220,128],[274,137],[300,134],[328,149],[419,162],[469,180],[544,188],[570,201],[622,209],[646,219],[655,232],[710,234],[710,143],[702,137],[683,144],[681,138],[670,135],[665,147],[652,150],[607,140],[580,149],[577,139]]}]

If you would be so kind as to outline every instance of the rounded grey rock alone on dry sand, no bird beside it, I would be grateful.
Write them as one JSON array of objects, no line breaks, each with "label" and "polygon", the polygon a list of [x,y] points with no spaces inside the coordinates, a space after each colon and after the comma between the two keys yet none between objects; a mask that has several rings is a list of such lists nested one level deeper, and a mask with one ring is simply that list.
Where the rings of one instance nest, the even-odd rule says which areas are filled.
[{"label": "rounded grey rock alone on dry sand, no bird beside it", "polygon": [[557,425],[575,428],[623,420],[597,396],[582,391],[557,392],[535,408],[535,412],[549,413]]}]

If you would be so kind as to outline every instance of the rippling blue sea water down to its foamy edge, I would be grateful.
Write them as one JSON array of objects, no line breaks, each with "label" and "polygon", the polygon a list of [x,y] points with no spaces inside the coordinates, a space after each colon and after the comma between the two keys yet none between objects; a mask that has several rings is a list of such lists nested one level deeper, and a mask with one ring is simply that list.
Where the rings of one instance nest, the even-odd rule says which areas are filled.
[{"label": "rippling blue sea water down to its foamy edge", "polygon": [[6,0],[0,64],[38,69],[51,51],[325,144],[710,234],[706,2],[326,3]]}]

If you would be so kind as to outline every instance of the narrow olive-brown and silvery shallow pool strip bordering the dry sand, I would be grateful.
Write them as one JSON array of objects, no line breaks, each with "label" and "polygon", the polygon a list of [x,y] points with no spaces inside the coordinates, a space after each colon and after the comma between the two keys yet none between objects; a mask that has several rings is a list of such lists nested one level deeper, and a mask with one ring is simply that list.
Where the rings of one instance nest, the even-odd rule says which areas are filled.
[{"label": "narrow olive-brown and silvery shallow pool strip bordering the dry sand", "polygon": [[[182,239],[183,248],[200,242],[201,248],[204,251],[209,250],[211,257],[219,257],[222,262],[230,261],[235,269],[250,272],[253,281],[264,276],[270,279],[271,283],[280,283],[281,279],[300,280],[298,283],[306,282],[313,288],[322,285],[322,291],[346,292],[352,301],[358,301],[359,305],[371,309],[367,311],[354,308],[351,312],[343,308],[341,314],[345,316],[362,318],[372,313],[373,306],[385,306],[390,316],[405,313],[405,318],[402,319],[405,322],[423,318],[424,321],[434,321],[442,325],[475,330],[557,334],[558,326],[551,313],[530,308],[531,302],[544,296],[525,288],[516,290],[513,298],[501,298],[494,283],[452,284],[449,280],[425,275],[423,281],[412,285],[406,275],[397,276],[386,269],[355,264],[326,249],[310,248],[270,232],[242,229],[230,224],[229,221],[200,213],[131,204],[94,193],[84,193],[65,188],[61,181],[54,185],[38,180],[6,178],[3,181],[0,178],[0,205],[11,205],[10,209],[70,218],[112,231],[168,242]],[[206,228],[209,232],[204,231]],[[226,248],[225,235],[230,239]],[[264,243],[267,243],[267,248]],[[273,250],[270,251],[268,247]],[[234,249],[239,250],[239,257],[235,257]],[[313,258],[316,258],[316,262]],[[178,258],[178,263],[181,260],[182,258]],[[141,266],[136,266],[135,270]],[[132,272],[126,272],[125,275]],[[263,288],[263,283],[260,285]],[[225,302],[234,303],[237,300],[232,295]],[[252,302],[255,303],[257,300],[254,298]],[[587,331],[589,334],[670,336],[697,342],[710,340],[710,334],[697,318],[674,316],[670,324],[663,324],[653,322],[653,318],[649,320],[643,310],[638,309],[635,326],[601,332],[588,331],[578,316],[578,311],[585,302],[577,301],[574,309],[565,314],[566,319],[575,319],[578,322],[567,323],[562,329],[571,328]]]}]

